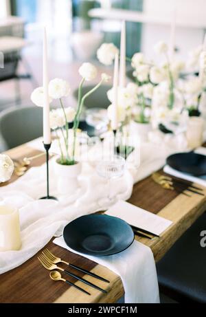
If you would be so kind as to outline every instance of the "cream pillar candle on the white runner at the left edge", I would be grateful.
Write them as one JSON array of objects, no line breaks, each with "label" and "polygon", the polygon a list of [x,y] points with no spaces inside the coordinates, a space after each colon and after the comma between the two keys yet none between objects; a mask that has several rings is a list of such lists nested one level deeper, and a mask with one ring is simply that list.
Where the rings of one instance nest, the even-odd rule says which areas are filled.
[{"label": "cream pillar candle on the white runner at the left edge", "polygon": [[0,206],[0,252],[21,248],[19,210]]}]

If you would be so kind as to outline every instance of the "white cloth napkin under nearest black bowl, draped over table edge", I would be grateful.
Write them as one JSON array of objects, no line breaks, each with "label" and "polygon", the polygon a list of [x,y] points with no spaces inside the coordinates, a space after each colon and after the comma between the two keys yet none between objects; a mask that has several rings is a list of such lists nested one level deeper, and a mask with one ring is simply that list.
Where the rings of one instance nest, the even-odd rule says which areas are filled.
[{"label": "white cloth napkin under nearest black bowl, draped over table edge", "polygon": [[[54,239],[54,243],[76,254],[65,243],[63,237]],[[112,270],[122,278],[125,303],[159,303],[159,287],[154,256],[146,245],[134,241],[130,247],[111,256],[86,256]]]}]

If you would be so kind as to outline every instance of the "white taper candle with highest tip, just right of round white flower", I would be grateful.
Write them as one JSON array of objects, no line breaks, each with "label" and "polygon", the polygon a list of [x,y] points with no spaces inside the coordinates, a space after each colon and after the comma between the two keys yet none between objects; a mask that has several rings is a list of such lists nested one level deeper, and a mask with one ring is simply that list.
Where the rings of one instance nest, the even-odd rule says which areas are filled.
[{"label": "white taper candle with highest tip, just right of round white flower", "polygon": [[120,44],[120,65],[119,65],[119,87],[126,86],[126,24],[122,21],[121,44]]}]

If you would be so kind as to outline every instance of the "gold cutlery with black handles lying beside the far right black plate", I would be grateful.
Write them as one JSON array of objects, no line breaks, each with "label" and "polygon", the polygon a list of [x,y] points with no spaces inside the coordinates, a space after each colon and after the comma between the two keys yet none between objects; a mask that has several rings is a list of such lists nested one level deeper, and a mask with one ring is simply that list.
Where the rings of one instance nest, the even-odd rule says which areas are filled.
[{"label": "gold cutlery with black handles lying beside the far right black plate", "polygon": [[168,175],[163,175],[161,173],[153,173],[152,179],[162,188],[168,190],[175,190],[177,193],[181,193],[187,197],[192,197],[192,193],[205,196],[203,193],[203,188],[194,186],[192,182],[188,182],[185,179],[170,177]]}]

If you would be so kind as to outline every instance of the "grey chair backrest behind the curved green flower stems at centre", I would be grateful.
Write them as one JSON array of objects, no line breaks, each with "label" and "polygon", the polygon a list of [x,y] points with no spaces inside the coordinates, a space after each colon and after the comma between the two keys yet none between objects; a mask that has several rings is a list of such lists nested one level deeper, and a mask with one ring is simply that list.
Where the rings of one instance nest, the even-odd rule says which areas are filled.
[{"label": "grey chair backrest behind the curved green flower stems at centre", "polygon": [[[82,94],[87,94],[89,90],[91,90],[94,85],[85,86],[82,88]],[[84,107],[87,109],[91,108],[108,108],[111,105],[111,102],[107,98],[107,91],[111,89],[110,85],[102,85],[99,89],[97,89],[91,96],[89,96],[85,102]],[[78,89],[73,92],[73,96],[78,100]]]}]

